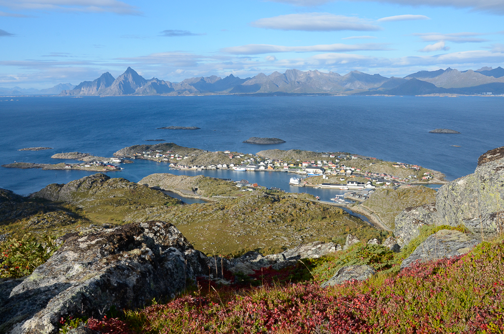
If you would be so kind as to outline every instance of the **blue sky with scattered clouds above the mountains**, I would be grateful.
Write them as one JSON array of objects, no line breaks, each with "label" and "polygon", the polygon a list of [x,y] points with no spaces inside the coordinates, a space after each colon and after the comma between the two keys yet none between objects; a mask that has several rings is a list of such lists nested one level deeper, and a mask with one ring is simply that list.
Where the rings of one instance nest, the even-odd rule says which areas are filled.
[{"label": "blue sky with scattered clouds above the mountains", "polygon": [[504,65],[504,0],[0,0],[0,87]]}]

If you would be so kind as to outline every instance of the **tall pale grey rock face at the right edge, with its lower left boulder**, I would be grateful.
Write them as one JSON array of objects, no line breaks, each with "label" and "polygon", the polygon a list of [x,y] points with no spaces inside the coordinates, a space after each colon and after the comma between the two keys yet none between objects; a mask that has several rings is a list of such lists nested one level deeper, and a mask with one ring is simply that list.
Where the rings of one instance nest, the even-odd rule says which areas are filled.
[{"label": "tall pale grey rock face at the right edge, with its lower left boulder", "polygon": [[473,174],[439,189],[435,204],[407,208],[395,220],[395,235],[406,245],[421,225],[464,225],[473,233],[495,236],[504,223],[504,147],[478,159]]}]

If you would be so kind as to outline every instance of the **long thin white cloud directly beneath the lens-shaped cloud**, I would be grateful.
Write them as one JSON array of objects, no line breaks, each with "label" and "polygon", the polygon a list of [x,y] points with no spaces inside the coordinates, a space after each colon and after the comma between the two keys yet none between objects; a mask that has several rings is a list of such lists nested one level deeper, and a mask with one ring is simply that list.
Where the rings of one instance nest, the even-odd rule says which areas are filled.
[{"label": "long thin white cloud directly beneath the lens-shaped cloud", "polygon": [[221,52],[232,54],[262,54],[273,52],[346,52],[361,50],[390,50],[381,43],[365,44],[322,44],[309,46],[283,46],[270,44],[248,44],[231,46],[221,49]]}]

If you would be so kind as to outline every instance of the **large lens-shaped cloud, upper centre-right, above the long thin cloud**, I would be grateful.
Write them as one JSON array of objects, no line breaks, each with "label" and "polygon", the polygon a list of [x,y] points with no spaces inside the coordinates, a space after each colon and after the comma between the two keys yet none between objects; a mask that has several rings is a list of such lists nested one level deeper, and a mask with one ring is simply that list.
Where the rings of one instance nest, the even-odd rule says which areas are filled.
[{"label": "large lens-shaped cloud, upper centre-right, above the long thin cloud", "polygon": [[382,28],[356,17],[329,13],[288,14],[259,19],[250,23],[253,27],[278,30],[338,31],[357,30],[374,31]]}]

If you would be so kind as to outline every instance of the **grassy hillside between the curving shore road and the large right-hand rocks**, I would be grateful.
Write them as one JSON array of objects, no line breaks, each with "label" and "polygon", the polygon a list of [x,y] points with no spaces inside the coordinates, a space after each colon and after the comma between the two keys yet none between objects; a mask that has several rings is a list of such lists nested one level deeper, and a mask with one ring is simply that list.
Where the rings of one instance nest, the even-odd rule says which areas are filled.
[{"label": "grassy hillside between the curving shore road and the large right-hand rocks", "polygon": [[361,205],[380,216],[391,229],[396,216],[405,208],[435,202],[436,192],[424,186],[376,189]]}]

